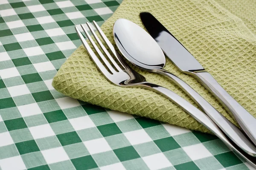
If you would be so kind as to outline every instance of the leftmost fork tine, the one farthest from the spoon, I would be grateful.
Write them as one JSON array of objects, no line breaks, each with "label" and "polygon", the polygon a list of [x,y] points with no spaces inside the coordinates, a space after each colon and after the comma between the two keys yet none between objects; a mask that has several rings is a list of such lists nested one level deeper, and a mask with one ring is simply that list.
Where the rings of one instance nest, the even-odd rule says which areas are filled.
[{"label": "leftmost fork tine, the one farthest from the spoon", "polygon": [[77,27],[75,27],[76,32],[81,40],[81,42],[84,45],[84,48],[87,50],[88,54],[90,55],[91,59],[93,60],[93,62],[96,64],[96,66],[99,68],[99,70],[102,72],[102,74],[104,74],[106,77],[110,76],[111,74],[109,73],[109,71],[104,67],[104,65],[102,65],[102,63],[99,61],[98,57],[94,54],[93,50],[90,48],[89,44],[86,42],[86,40],[84,39],[83,35],[81,34],[81,32],[79,31],[79,29]]}]

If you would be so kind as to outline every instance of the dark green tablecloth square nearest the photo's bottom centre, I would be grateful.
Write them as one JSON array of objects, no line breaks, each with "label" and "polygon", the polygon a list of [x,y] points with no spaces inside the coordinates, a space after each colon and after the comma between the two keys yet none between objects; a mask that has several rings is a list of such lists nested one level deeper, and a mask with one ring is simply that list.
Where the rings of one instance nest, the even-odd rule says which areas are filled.
[{"label": "dark green tablecloth square nearest the photo's bottom centre", "polygon": [[131,159],[140,158],[140,155],[137,153],[133,146],[122,147],[113,151],[120,161],[128,161]]}]

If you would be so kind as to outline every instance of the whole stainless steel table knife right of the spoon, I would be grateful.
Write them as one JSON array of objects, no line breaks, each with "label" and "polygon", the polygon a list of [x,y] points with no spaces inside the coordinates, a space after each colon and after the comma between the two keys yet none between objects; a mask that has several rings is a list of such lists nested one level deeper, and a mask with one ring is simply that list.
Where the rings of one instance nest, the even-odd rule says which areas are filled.
[{"label": "whole stainless steel table knife right of the spoon", "polygon": [[166,56],[172,60],[181,72],[194,77],[210,91],[231,113],[230,115],[236,119],[252,142],[256,144],[256,119],[218,84],[212,75],[151,13],[141,12],[140,19]]}]

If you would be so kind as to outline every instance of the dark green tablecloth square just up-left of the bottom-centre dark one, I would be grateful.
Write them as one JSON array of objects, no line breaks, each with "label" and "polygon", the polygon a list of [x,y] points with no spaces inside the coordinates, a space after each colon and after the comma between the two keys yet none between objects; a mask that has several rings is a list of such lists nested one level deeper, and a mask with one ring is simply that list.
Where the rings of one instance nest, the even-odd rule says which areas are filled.
[{"label": "dark green tablecloth square just up-left of the bottom-centre dark one", "polygon": [[97,128],[99,129],[100,133],[104,137],[122,133],[122,131],[119,129],[119,127],[115,123],[97,126]]}]

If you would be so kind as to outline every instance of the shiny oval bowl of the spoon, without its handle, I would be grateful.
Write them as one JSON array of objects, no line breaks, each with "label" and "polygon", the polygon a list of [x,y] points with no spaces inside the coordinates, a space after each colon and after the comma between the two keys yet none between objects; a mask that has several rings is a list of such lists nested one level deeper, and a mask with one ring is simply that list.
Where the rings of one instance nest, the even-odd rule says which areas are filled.
[{"label": "shiny oval bowl of the spoon, without its handle", "polygon": [[118,19],[113,26],[113,36],[119,51],[134,65],[146,70],[164,67],[166,59],[162,49],[137,24]]}]

